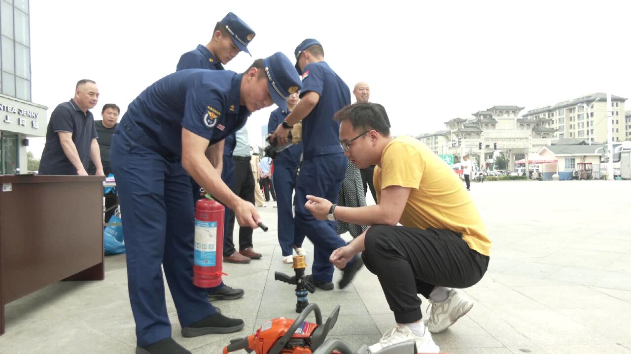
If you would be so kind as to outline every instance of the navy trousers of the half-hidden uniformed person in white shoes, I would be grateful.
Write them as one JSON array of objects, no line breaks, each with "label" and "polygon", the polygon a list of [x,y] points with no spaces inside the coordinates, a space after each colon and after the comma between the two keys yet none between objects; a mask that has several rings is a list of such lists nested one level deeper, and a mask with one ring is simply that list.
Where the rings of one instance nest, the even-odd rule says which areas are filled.
[{"label": "navy trousers of the half-hidden uniformed person in white shoes", "polygon": [[[293,254],[293,245],[302,247],[305,234],[295,233],[293,220],[292,195],[296,186],[296,170],[298,166],[286,161],[274,161],[274,188],[276,189],[276,203],[278,205],[278,244],[283,251],[283,257]],[[303,203],[304,206],[304,203]]]}]

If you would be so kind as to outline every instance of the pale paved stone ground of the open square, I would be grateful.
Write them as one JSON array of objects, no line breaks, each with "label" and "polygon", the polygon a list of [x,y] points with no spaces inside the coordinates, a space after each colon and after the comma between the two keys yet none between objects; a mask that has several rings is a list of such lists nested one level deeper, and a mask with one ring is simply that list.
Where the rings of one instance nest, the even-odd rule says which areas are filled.
[{"label": "pale paved stone ground of the open square", "polygon": [[[471,195],[487,222],[492,258],[483,280],[466,289],[476,301],[468,316],[434,336],[442,351],[631,353],[631,182],[473,183]],[[276,208],[260,211],[270,226],[254,235],[264,257],[225,264],[225,281],[245,297],[216,302],[244,319],[240,333],[182,338],[167,294],[173,336],[193,353],[221,353],[266,319],[296,315],[293,287],[273,280],[274,271],[292,271],[277,245]],[[310,263],[312,246],[305,246]],[[102,282],[56,283],[8,304],[0,353],[134,353],[125,256],[107,257],[106,267]],[[320,290],[309,300],[325,317],[341,305],[331,336],[355,348],[394,325],[377,278],[365,269],[345,290]]]}]

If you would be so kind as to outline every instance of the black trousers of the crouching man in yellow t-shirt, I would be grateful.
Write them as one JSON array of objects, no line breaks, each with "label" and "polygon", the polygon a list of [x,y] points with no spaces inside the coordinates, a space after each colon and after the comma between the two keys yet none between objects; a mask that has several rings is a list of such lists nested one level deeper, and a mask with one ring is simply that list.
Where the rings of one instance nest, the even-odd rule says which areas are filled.
[{"label": "black trousers of the crouching man in yellow t-shirt", "polygon": [[449,230],[376,225],[367,231],[365,246],[363,261],[379,278],[397,323],[422,318],[416,294],[428,298],[437,286],[471,287],[489,260]]}]

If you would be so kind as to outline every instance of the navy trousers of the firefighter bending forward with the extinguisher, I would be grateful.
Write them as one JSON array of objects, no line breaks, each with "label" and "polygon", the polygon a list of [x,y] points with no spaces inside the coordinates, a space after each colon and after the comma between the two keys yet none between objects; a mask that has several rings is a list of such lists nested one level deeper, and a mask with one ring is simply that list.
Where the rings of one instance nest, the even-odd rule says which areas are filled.
[{"label": "navy trousers of the firefighter bending forward with the extinguisher", "polygon": [[136,338],[139,346],[146,346],[171,336],[162,269],[182,327],[212,316],[215,307],[206,289],[192,282],[195,236],[189,175],[179,159],[161,156],[124,130],[112,139],[112,168],[124,219]]}]

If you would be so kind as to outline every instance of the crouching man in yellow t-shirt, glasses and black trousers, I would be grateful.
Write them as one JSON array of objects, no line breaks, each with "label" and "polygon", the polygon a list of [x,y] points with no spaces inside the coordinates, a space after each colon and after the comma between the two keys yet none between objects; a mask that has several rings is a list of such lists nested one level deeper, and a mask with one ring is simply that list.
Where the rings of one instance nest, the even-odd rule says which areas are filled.
[{"label": "crouching man in yellow t-shirt, glasses and black trousers", "polygon": [[[336,207],[307,196],[305,207],[319,220],[372,226],[330,258],[343,269],[363,252],[366,268],[379,278],[394,312],[397,326],[370,349],[376,352],[415,340],[419,352],[438,353],[430,333],[444,331],[473,307],[456,288],[480,281],[487,271],[491,241],[454,171],[418,140],[391,137],[384,117],[386,111],[375,103],[346,106],[335,116],[341,122],[345,156],[358,168],[377,165],[377,205]],[[345,276],[350,281],[346,272]],[[416,294],[432,303],[428,330]]]}]

